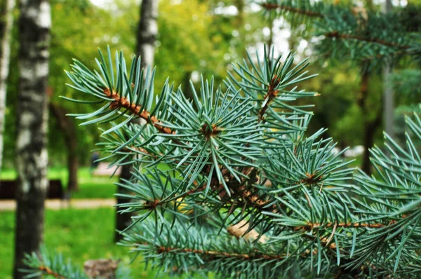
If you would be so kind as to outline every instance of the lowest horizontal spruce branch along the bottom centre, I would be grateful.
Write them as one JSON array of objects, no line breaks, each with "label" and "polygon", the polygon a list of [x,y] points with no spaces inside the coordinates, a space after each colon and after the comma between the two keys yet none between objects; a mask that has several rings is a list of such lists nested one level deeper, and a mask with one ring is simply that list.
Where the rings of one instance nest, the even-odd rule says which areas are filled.
[{"label": "lowest horizontal spruce branch along the bottom centre", "polygon": [[174,233],[171,223],[163,222],[159,235],[155,228],[154,222],[143,222],[126,234],[122,245],[142,254],[157,271],[192,278],[212,273],[218,278],[273,278],[288,270],[282,263],[283,251],[276,245],[268,248],[232,238],[220,227],[192,227]]}]

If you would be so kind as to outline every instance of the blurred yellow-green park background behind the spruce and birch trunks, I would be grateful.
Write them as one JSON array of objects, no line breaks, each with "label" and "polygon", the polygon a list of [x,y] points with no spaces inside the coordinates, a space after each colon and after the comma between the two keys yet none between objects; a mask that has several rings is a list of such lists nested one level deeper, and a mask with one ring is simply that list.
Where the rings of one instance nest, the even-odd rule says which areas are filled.
[{"label": "blurred yellow-green park background behind the spruce and birch trunks", "polygon": [[[64,69],[72,58],[95,67],[98,47],[123,50],[126,57],[135,54],[136,34],[140,20],[138,0],[51,0],[51,54],[48,76],[48,179],[59,180],[67,199],[83,200],[87,204],[67,206],[58,203],[46,210],[44,240],[77,263],[87,259],[112,257],[128,262],[125,247],[114,245],[113,194],[116,186],[109,179],[112,173],[103,165],[91,166],[91,149],[99,142],[100,131],[94,125],[77,128],[78,121],[65,114],[86,112],[86,106],[66,102],[59,96],[75,97]],[[331,1],[335,2],[335,1]],[[336,1],[337,2],[337,1]],[[350,5],[381,10],[384,1],[343,1]],[[392,1],[394,8],[406,8],[408,1]],[[410,1],[419,4],[421,1]],[[19,17],[18,8],[13,17]],[[17,20],[15,20],[17,22]],[[159,0],[158,36],[154,42],[156,66],[155,87],[159,91],[167,77],[189,93],[189,81],[199,87],[200,75],[215,77],[222,83],[232,62],[246,57],[246,51],[262,55],[272,46],[277,54],[287,55],[293,50],[298,60],[311,57],[310,74],[319,74],[301,88],[316,91],[320,97],[307,102],[315,104],[311,130],[328,128],[325,137],[333,137],[338,148],[352,147],[348,158],[355,158],[354,166],[362,167],[363,152],[373,144],[382,144],[382,94],[385,82],[381,74],[370,77],[366,107],[359,106],[361,70],[352,62],[322,61],[312,56],[312,36],[305,25],[291,29],[286,20],[272,20],[261,7],[248,0]],[[15,171],[16,115],[18,103],[18,28],[13,25],[11,35],[11,64],[7,80],[6,122],[1,179],[13,180]],[[399,71],[399,65],[395,71]],[[408,75],[410,67],[405,66]],[[393,79],[390,80],[392,86]],[[395,84],[395,83],[394,83]],[[408,88],[399,89],[394,97],[394,133],[402,137],[403,117],[417,109],[419,95],[410,95]],[[76,97],[75,97],[76,98]],[[370,125],[367,127],[363,123]],[[376,121],[380,119],[379,121]],[[367,140],[367,135],[370,139]],[[76,177],[76,179],[75,179]],[[67,191],[72,190],[72,191]],[[90,203],[95,199],[98,203]],[[98,201],[99,200],[99,201]],[[0,278],[12,278],[15,215],[13,205],[0,199]],[[90,208],[81,208],[90,207]],[[154,276],[153,271],[133,264],[134,278]]]}]

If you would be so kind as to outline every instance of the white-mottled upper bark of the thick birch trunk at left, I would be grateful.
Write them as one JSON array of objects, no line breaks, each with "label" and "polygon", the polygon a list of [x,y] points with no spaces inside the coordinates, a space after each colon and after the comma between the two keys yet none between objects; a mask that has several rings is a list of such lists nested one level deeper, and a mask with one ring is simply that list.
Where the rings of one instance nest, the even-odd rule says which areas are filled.
[{"label": "white-mottled upper bark of the thick birch trunk at left", "polygon": [[48,186],[46,86],[50,28],[51,11],[48,1],[21,2],[16,168],[24,196],[31,187],[46,191]]}]

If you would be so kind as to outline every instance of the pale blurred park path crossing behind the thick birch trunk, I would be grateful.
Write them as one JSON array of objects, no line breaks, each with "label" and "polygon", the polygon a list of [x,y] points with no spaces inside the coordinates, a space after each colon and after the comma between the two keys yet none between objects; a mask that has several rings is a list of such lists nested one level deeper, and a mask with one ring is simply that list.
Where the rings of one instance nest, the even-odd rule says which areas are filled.
[{"label": "pale blurred park path crossing behind the thick birch trunk", "polygon": [[[65,208],[98,208],[112,207],[116,205],[115,198],[89,198],[78,200],[46,200],[46,208],[52,210],[61,210]],[[15,200],[0,200],[0,211],[12,211],[16,209]]]}]

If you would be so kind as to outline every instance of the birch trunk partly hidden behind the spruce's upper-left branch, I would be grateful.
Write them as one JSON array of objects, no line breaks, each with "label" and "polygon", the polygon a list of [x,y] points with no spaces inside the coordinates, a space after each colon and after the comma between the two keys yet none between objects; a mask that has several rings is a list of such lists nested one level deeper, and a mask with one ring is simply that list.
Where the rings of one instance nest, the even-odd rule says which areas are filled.
[{"label": "birch trunk partly hidden behind the spruce's upper-left branch", "polygon": [[[158,18],[158,1],[156,0],[143,0],[140,6],[140,21],[138,25],[138,42],[136,45],[136,54],[142,58],[142,67],[150,66],[154,64],[154,44],[156,36],[158,35],[158,24],[156,19]],[[130,125],[130,124],[129,124]],[[123,165],[121,167],[121,179],[131,179],[131,165]],[[126,189],[121,186],[117,186],[117,193],[127,193]],[[117,204],[125,203],[126,199],[116,198]],[[131,214],[119,213],[119,209],[116,209],[116,233],[114,240],[121,240],[122,236],[119,231],[123,231],[131,223]]]}]

